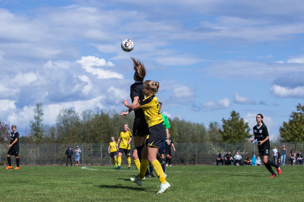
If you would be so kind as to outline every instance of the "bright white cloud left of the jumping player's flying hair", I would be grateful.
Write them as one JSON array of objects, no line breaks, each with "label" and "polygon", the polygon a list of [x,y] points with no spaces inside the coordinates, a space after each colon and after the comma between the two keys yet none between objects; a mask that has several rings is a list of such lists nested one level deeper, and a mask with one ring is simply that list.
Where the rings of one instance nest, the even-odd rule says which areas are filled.
[{"label": "bright white cloud left of the jumping player's flying hair", "polygon": [[91,73],[92,75],[97,75],[97,78],[99,79],[107,79],[107,78],[123,79],[122,74],[100,68],[93,68],[93,66],[97,66],[97,67],[114,66],[112,62],[106,62],[105,59],[103,58],[99,59],[95,56],[82,56],[80,60],[76,61],[76,63],[81,64],[82,68],[84,68],[86,72]]}]

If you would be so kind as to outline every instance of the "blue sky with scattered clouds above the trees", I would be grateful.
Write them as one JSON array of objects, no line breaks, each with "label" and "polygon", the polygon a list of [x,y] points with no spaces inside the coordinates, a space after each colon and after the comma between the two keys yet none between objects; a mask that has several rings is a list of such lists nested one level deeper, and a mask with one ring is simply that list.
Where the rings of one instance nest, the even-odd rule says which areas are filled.
[{"label": "blue sky with scattered clouds above the trees", "polygon": [[0,1],[0,119],[25,134],[36,102],[45,124],[126,110],[132,56],[170,118],[208,127],[235,110],[252,128],[261,113],[275,139],[304,104],[303,19],[292,0]]}]

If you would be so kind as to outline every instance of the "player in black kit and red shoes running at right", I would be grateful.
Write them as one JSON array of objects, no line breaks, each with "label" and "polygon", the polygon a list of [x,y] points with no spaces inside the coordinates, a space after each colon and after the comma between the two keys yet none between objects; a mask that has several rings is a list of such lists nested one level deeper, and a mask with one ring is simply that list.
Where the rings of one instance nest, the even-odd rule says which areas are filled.
[{"label": "player in black kit and red shoes running at right", "polygon": [[272,170],[271,166],[275,167],[278,171],[278,174],[281,174],[281,167],[268,161],[268,156],[270,156],[270,141],[267,127],[263,122],[263,115],[257,114],[256,116],[257,125],[253,127],[254,138],[250,141],[253,142],[257,139],[257,148],[259,150],[259,155],[269,172],[271,172],[270,177],[277,177],[275,172]]}]

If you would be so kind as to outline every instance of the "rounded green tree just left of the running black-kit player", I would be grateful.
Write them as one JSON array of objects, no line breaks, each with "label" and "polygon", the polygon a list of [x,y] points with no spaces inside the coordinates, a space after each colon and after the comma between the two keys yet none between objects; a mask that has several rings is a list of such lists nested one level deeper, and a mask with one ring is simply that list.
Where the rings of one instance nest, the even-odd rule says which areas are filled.
[{"label": "rounded green tree just left of the running black-kit player", "polygon": [[223,141],[225,142],[247,142],[251,135],[249,134],[248,123],[244,122],[243,118],[240,118],[240,114],[236,111],[230,113],[228,120],[222,119],[223,131],[219,129],[222,134]]}]

